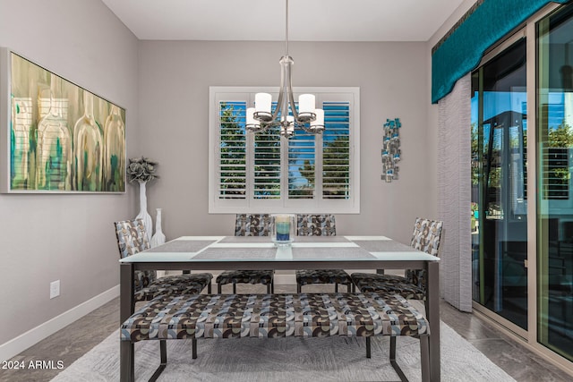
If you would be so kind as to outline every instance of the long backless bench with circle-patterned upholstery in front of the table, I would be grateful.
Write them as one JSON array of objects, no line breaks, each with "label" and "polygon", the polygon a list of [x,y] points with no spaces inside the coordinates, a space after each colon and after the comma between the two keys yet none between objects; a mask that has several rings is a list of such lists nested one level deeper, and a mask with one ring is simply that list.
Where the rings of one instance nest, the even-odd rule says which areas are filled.
[{"label": "long backless bench with circle-patterned upholstery in front of the table", "polygon": [[[160,340],[161,365],[167,364],[165,340],[192,339],[197,358],[197,338],[366,337],[389,335],[390,363],[402,380],[396,363],[396,337],[420,339],[422,379],[429,380],[426,318],[399,295],[378,293],[298,294],[195,294],[159,296],[126,319],[121,326],[121,380],[133,380],[134,347],[141,340]],[[152,379],[153,379],[152,378]]]}]

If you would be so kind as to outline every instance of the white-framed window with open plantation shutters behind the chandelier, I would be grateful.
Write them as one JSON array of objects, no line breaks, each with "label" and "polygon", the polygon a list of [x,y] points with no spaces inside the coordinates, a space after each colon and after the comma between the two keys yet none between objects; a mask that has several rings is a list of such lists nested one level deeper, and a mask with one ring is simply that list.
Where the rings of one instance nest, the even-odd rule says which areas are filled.
[{"label": "white-framed window with open plantation shutters behind the chandelier", "polygon": [[[325,131],[278,127],[247,132],[245,112],[254,95],[278,89],[210,88],[210,213],[358,213],[360,161],[359,89],[295,88],[316,96]],[[276,105],[274,105],[276,106]]]}]

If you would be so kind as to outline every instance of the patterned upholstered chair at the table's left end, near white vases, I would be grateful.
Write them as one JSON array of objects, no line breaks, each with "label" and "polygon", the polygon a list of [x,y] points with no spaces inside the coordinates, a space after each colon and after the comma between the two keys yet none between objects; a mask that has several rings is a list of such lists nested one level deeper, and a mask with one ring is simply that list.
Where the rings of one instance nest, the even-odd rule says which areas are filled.
[{"label": "patterned upholstered chair at the table's left end, near white vases", "polygon": [[[133,219],[115,222],[115,236],[120,259],[149,250],[150,242],[143,220]],[[197,294],[207,286],[211,292],[210,273],[196,273],[157,277],[155,270],[135,271],[134,301],[150,301],[162,294]]]}]

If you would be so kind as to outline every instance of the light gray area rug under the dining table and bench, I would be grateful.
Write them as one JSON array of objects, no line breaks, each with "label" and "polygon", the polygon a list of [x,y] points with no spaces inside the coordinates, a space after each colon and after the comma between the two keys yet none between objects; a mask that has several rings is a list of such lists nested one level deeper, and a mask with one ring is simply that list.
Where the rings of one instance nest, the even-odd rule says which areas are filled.
[{"label": "light gray area rug under the dining table and bench", "polygon": [[[398,337],[397,361],[410,381],[421,380],[420,345]],[[167,341],[167,368],[160,381],[396,381],[389,364],[389,338],[372,339],[372,358],[365,341],[355,337],[205,339],[192,360],[190,340]],[[452,328],[441,323],[442,381],[514,381]],[[135,377],[148,380],[159,363],[157,341],[135,344]],[[119,333],[64,369],[56,382],[118,381]]]}]

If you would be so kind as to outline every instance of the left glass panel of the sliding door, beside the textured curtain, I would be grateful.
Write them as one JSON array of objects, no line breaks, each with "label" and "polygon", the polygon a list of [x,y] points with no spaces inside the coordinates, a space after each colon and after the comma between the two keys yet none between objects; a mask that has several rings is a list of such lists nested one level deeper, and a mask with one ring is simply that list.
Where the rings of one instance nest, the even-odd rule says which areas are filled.
[{"label": "left glass panel of the sliding door, beside the textured curtain", "polygon": [[474,300],[527,328],[526,38],[472,77]]}]

